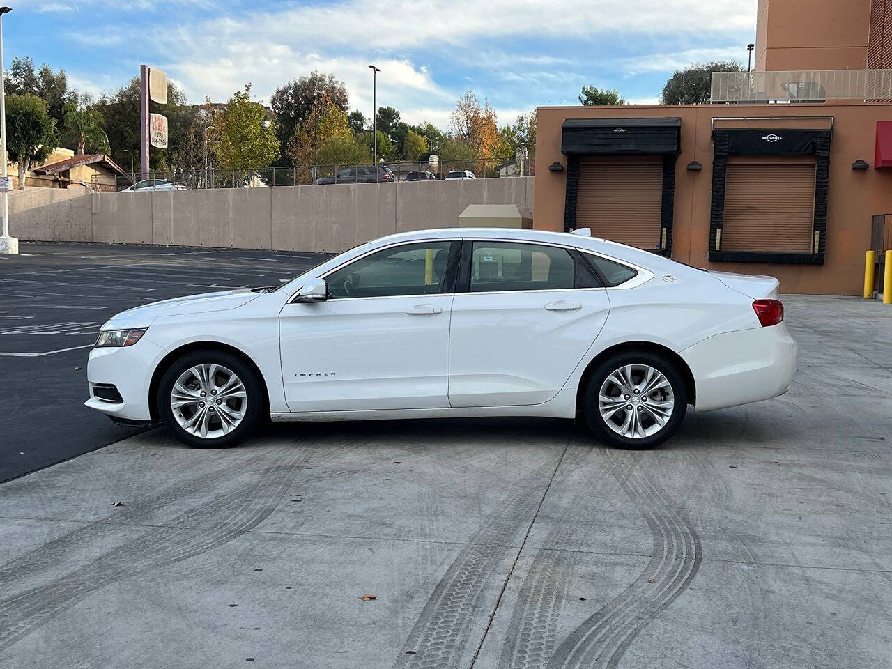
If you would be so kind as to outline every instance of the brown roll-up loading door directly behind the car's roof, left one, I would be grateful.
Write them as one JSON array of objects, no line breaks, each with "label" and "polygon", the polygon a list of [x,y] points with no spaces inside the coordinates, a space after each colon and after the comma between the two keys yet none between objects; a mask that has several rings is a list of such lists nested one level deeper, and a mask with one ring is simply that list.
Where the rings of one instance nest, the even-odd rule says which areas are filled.
[{"label": "brown roll-up loading door directly behind the car's roof, left one", "polygon": [[663,157],[579,159],[576,227],[653,251],[660,248]]}]

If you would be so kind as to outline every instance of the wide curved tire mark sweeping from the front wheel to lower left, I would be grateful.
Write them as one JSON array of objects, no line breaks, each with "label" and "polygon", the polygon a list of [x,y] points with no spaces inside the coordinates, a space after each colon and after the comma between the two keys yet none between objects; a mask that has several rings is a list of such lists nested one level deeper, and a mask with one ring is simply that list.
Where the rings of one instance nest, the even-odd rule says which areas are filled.
[{"label": "wide curved tire mark sweeping from the front wheel to lower left", "polygon": [[277,507],[305,463],[337,448],[291,447],[252,483],[219,494],[53,582],[0,601],[0,649],[34,632],[93,591],[149,569],[193,558],[248,532]]}]

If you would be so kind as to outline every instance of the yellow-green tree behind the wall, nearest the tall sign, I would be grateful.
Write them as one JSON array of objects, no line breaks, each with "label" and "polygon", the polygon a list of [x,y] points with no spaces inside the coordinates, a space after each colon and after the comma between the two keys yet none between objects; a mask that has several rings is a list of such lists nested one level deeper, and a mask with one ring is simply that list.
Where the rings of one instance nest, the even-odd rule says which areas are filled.
[{"label": "yellow-green tree behind the wall, nearest the tall sign", "polygon": [[265,124],[265,117],[263,105],[251,100],[251,84],[235,91],[226,108],[214,115],[210,144],[220,168],[241,170],[245,177],[246,170],[265,168],[276,160],[276,127]]}]

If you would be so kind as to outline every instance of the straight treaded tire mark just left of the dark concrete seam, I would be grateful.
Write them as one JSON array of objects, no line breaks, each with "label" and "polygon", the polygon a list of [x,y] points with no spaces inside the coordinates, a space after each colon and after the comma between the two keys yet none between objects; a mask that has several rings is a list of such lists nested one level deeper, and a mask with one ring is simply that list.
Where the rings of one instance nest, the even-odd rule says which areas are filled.
[{"label": "straight treaded tire mark just left of the dark concrete seam", "polygon": [[[554,471],[547,462],[516,483],[500,508],[483,520],[442,575],[393,663],[394,669],[458,667],[474,624],[475,609],[500,563],[515,550],[541,501],[541,486]],[[407,655],[406,651],[414,651]]]}]

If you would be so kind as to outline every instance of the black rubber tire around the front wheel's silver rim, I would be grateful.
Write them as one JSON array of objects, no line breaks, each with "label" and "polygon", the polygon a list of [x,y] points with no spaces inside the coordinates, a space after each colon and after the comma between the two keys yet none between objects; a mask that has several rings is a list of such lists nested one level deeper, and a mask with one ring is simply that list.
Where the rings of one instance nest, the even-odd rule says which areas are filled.
[{"label": "black rubber tire around the front wheel's silver rim", "polygon": [[[244,417],[227,434],[214,437],[192,434],[179,425],[177,417],[174,417],[174,409],[170,406],[170,393],[179,376],[196,365],[218,365],[226,368],[233,372],[244,385],[245,400],[247,401]],[[226,449],[242,442],[253,432],[267,409],[267,398],[256,372],[242,359],[225,351],[202,350],[186,353],[164,372],[164,375],[161,376],[161,383],[158,385],[157,407],[158,415],[161,416],[161,421],[167,427],[168,432],[177,437],[180,442],[194,449]],[[216,421],[217,425],[220,425],[219,417],[216,418]]]}]

